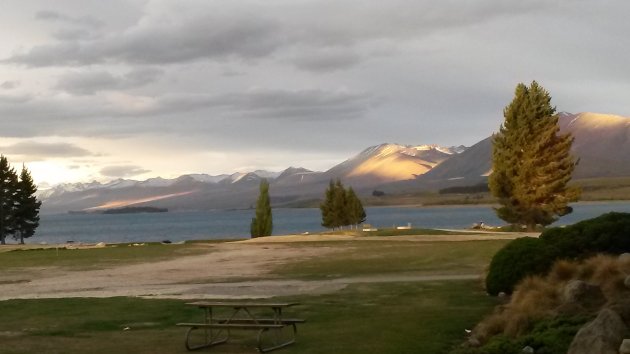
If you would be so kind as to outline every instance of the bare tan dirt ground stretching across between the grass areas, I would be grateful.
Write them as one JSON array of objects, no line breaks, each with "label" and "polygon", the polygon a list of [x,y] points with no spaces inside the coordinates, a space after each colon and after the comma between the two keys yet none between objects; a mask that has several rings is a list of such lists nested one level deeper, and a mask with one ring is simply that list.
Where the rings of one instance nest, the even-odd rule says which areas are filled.
[{"label": "bare tan dirt ground stretching across between the grass areas", "polygon": [[[414,240],[467,241],[515,238],[523,235],[454,235],[410,237],[277,236],[212,245],[213,252],[107,269],[67,271],[56,268],[22,269],[0,282],[0,300],[62,297],[142,296],[153,298],[266,298],[329,293],[357,282],[475,279],[478,275],[370,276],[334,280],[273,279],[269,271],[294,260],[321,257],[344,250],[330,247],[292,247],[295,241]],[[6,278],[7,276],[3,276]]]}]

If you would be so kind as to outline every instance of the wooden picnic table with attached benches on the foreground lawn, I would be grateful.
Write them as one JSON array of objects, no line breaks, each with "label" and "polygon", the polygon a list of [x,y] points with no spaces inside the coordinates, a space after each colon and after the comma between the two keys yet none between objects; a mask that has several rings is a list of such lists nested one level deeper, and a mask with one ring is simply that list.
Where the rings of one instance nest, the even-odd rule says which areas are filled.
[{"label": "wooden picnic table with attached benches on the foreground lawn", "polygon": [[[185,346],[188,350],[208,348],[227,342],[230,330],[258,330],[256,348],[261,353],[286,347],[295,343],[298,323],[306,322],[300,318],[283,318],[282,310],[297,305],[297,303],[267,303],[267,302],[235,302],[235,301],[197,301],[187,305],[197,306],[204,310],[203,322],[178,323],[177,326],[189,327],[186,331]],[[225,317],[217,317],[220,309]],[[261,312],[267,312],[265,317]],[[268,315],[271,314],[271,317]],[[292,331],[283,331],[292,327]],[[196,330],[203,332],[201,344],[192,344]],[[289,332],[289,333],[286,333]],[[264,345],[264,342],[271,344]]]}]

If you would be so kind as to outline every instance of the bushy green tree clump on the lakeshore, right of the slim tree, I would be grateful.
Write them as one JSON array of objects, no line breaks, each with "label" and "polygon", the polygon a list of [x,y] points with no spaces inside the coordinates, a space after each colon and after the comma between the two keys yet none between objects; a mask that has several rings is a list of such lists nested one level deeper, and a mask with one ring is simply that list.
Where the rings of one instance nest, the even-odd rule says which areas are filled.
[{"label": "bushy green tree clump on the lakeshore, right of the slim tree", "polygon": [[339,179],[336,182],[330,180],[319,208],[322,226],[333,230],[363,223],[367,216],[363,203],[352,187],[345,189]]}]

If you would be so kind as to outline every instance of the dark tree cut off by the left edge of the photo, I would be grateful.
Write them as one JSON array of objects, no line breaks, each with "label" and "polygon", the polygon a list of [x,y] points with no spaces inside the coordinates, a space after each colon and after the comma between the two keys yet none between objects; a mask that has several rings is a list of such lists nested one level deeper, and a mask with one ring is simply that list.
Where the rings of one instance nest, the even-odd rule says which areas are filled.
[{"label": "dark tree cut off by the left edge of the photo", "polygon": [[4,155],[0,155],[0,244],[6,244],[15,230],[17,174]]}]

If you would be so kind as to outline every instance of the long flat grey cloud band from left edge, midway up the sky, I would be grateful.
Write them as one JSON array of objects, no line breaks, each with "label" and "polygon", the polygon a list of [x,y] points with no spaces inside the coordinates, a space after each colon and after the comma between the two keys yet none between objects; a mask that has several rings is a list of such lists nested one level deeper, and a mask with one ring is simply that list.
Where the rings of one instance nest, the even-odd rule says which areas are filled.
[{"label": "long flat grey cloud band from left edge, midway up the sky", "polygon": [[[85,92],[87,88],[82,87]],[[134,99],[138,102],[133,102]],[[123,96],[123,101],[115,105],[103,103],[100,97],[78,96],[73,105],[51,99],[33,99],[22,104],[2,102],[0,96],[2,134],[111,137],[162,132],[168,127],[168,132],[179,135],[207,131],[226,120],[244,129],[252,120],[281,120],[288,129],[292,123],[305,121],[334,123],[359,119],[379,104],[376,97],[366,93],[264,89],[219,95]]]}]

